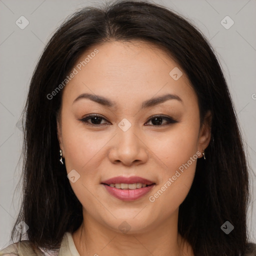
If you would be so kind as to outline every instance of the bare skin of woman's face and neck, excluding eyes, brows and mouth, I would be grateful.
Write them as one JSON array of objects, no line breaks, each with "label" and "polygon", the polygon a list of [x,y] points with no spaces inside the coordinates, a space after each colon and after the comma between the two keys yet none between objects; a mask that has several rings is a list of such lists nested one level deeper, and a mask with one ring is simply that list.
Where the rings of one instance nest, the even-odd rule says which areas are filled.
[{"label": "bare skin of woman's face and neck, excluding eyes, brows and mouth", "polygon": [[[184,72],[178,80],[169,75],[174,67],[182,69],[162,49],[137,40],[110,41],[87,49],[77,63],[94,48],[99,52],[63,88],[57,119],[67,173],[75,169],[80,175],[70,182],[83,206],[83,222],[72,234],[75,246],[80,255],[193,255],[177,231],[177,220],[196,160],[155,201],[148,198],[197,151],[202,157],[210,140],[210,113],[200,126],[197,96]],[[104,96],[116,105],[86,98],[73,103],[82,93]],[[142,101],[165,93],[182,101],[170,99],[140,109]],[[79,120],[95,113],[103,117],[101,124]],[[162,119],[156,125],[151,119],[156,114],[177,122]],[[123,118],[131,123],[125,132],[118,127]],[[100,184],[119,175],[140,176],[156,184],[145,196],[123,201]],[[118,228],[123,221],[130,226],[126,233]]]}]

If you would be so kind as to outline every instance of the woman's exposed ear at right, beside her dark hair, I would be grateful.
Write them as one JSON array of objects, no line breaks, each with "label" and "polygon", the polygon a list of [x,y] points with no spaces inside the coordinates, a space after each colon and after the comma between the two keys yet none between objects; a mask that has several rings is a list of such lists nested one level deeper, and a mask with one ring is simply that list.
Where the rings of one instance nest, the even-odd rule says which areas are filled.
[{"label": "woman's exposed ear at right, beside her dark hair", "polygon": [[211,115],[211,112],[208,110],[204,116],[203,123],[200,128],[199,138],[198,138],[197,150],[201,153],[201,157],[203,156],[202,152],[210,142],[211,120],[212,120],[212,115]]}]

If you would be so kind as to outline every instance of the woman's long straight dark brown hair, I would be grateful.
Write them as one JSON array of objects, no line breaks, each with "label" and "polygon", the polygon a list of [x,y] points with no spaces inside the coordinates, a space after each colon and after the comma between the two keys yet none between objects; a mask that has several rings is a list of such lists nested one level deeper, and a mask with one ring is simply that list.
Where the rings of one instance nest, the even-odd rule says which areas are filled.
[{"label": "woman's long straight dark brown hair", "polygon": [[[24,109],[23,201],[16,220],[28,226],[30,241],[58,247],[66,231],[82,222],[82,206],[59,163],[56,114],[61,91],[47,98],[88,47],[108,40],[140,39],[161,47],[181,66],[197,97],[201,120],[212,113],[206,161],[179,207],[178,231],[195,255],[243,255],[247,242],[248,172],[233,103],[214,50],[179,14],[148,1],[116,1],[85,7],[54,33],[34,70]],[[234,229],[225,234],[220,226]],[[15,227],[12,240],[21,239]]]}]

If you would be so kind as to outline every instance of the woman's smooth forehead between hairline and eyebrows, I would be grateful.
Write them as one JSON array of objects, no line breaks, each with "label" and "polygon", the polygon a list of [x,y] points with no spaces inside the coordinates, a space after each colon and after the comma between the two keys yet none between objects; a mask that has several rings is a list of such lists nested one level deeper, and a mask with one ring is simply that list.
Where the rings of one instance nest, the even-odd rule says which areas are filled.
[{"label": "woman's smooth forehead between hairline and eyebrows", "polygon": [[[94,45],[81,54],[73,68],[76,74],[64,88],[65,99],[73,100],[85,92],[123,103],[164,93],[196,99],[181,67],[164,50],[144,41]],[[182,75],[173,79],[172,70],[178,77]]]}]

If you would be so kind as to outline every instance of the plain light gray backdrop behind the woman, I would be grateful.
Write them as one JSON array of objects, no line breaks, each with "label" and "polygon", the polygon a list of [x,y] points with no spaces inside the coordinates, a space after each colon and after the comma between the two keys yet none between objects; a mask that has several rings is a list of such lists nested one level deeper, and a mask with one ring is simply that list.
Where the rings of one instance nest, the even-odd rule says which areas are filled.
[{"label": "plain light gray backdrop behind the woman", "polygon": [[[101,2],[0,0],[0,248],[10,242],[10,230],[21,202],[20,188],[14,193],[21,173],[18,159],[22,146],[22,133],[17,122],[19,123],[20,120],[32,71],[44,44],[64,18],[77,8]],[[251,166],[252,194],[248,231],[250,240],[256,242],[256,1],[155,0],[154,2],[170,7],[188,18],[210,40],[217,52],[237,111]],[[20,29],[15,24],[21,15],[29,21],[24,29]],[[220,23],[226,15],[234,21],[229,29],[224,28]],[[229,20],[224,22],[230,24]]]}]

